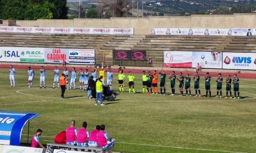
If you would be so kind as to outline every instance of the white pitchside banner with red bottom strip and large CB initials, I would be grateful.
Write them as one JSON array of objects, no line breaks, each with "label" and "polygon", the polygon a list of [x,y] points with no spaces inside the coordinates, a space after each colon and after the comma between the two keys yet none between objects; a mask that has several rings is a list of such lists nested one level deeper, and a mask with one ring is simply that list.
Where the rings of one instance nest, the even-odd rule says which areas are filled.
[{"label": "white pitchside banner with red bottom strip and large CB initials", "polygon": [[192,51],[164,51],[164,67],[192,67]]}]

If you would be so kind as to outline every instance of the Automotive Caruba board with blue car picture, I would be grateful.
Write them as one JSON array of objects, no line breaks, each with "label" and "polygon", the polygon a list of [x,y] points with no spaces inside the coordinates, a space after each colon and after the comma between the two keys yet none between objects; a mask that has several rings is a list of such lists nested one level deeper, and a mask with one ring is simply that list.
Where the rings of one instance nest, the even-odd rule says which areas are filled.
[{"label": "Automotive Caruba board with blue car picture", "polygon": [[69,49],[70,64],[95,64],[95,49]]}]

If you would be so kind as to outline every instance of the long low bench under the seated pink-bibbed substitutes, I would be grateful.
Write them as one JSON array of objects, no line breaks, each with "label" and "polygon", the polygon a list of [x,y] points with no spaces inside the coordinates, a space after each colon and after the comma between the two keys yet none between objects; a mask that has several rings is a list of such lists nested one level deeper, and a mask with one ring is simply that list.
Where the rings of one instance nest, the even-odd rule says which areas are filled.
[{"label": "long low bench under the seated pink-bibbed substitutes", "polygon": [[96,150],[96,151],[101,151],[101,152],[109,152],[109,153],[112,153],[112,150],[111,148],[112,147],[109,147],[109,148],[100,148],[100,147],[80,147],[80,146],[70,146],[66,143],[47,143],[47,146],[46,148],[48,149],[49,146],[54,146],[54,147],[57,147],[59,149],[59,147],[63,147],[63,148],[68,148],[69,150],[70,149],[85,149],[85,150]]}]

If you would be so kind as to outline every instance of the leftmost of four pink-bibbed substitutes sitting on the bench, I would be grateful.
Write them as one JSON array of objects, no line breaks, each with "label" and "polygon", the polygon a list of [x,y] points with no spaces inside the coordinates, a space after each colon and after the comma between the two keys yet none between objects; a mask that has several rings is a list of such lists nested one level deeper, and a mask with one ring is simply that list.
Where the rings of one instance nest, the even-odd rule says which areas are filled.
[{"label": "leftmost of four pink-bibbed substitutes sitting on the bench", "polygon": [[70,127],[66,129],[66,138],[67,138],[68,145],[76,144],[76,135],[77,135],[77,130],[75,128],[75,121],[72,120],[70,122]]}]

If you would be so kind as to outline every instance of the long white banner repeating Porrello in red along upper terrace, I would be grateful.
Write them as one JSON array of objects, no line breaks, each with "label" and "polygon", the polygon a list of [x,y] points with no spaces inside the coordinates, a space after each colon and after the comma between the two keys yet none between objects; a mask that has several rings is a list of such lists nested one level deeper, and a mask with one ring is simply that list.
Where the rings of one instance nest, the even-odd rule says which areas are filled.
[{"label": "long white banner repeating Porrello in red along upper terrace", "polygon": [[9,27],[0,26],[0,32],[49,33],[49,34],[134,34],[133,28],[58,28],[58,27]]}]

